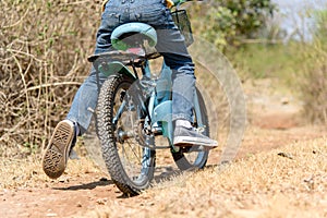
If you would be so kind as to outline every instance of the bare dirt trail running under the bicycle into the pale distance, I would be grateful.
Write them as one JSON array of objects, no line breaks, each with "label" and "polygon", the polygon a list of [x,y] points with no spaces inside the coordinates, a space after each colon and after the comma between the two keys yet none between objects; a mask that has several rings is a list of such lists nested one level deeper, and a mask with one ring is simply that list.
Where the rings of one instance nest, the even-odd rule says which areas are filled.
[{"label": "bare dirt trail running under the bicycle into the pale distance", "polygon": [[[326,135],[326,129],[301,123],[299,102],[291,97],[270,95],[268,98],[251,89],[246,95],[255,116],[251,116],[238,158]],[[219,152],[213,150],[208,166],[215,166],[218,158]],[[164,161],[174,168],[169,155],[164,154]],[[168,173],[167,169],[162,174]],[[32,173],[43,172],[35,169]],[[70,162],[60,180],[43,179],[32,185],[0,190],[0,217],[71,217],[105,207],[112,199],[117,204],[126,201],[133,204],[142,198],[124,198],[107,173],[92,168],[89,160],[82,158],[80,162]]]}]

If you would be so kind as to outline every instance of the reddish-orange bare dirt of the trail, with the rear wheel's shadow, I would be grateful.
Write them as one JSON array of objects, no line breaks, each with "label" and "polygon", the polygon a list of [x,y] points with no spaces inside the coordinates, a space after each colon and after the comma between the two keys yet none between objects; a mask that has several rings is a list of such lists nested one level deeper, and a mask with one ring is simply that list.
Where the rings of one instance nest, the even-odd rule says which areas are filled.
[{"label": "reddish-orange bare dirt of the trail, with the rear wheel's shadow", "polygon": [[[240,157],[322,136],[324,133],[317,130],[302,126],[261,132],[262,130],[254,128],[244,138]],[[217,158],[211,154],[208,165],[215,165],[214,160]],[[101,171],[82,172],[77,175],[72,174],[69,169],[59,181],[34,185],[1,190],[0,217],[69,217],[104,207],[109,199],[116,199],[118,204],[125,201],[110,178]],[[137,197],[134,198],[137,201]]]}]

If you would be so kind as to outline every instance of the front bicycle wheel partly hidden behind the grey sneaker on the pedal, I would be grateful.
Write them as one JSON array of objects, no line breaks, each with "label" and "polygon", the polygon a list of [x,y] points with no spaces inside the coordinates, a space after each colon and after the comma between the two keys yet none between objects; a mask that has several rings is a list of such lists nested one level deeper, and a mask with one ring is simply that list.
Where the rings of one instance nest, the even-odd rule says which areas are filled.
[{"label": "front bicycle wheel partly hidden behind the grey sneaker on the pedal", "polygon": [[[202,134],[209,136],[209,122],[207,117],[207,110],[205,106],[205,101],[203,99],[202,94],[196,88],[199,111],[201,114],[197,114],[195,110],[193,110],[193,122],[192,125],[194,128],[202,128]],[[199,119],[201,118],[201,119]],[[208,159],[208,150],[198,150],[196,146],[184,147],[179,152],[172,152],[172,157],[174,162],[177,164],[180,170],[193,170],[193,169],[202,169],[205,167]]]}]

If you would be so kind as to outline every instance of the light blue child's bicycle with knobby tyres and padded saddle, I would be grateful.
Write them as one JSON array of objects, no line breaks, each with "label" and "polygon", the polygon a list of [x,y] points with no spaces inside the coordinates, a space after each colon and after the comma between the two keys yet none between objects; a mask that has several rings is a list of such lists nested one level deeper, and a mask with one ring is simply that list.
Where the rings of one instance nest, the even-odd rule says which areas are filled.
[{"label": "light blue child's bicycle with knobby tyres and padded saddle", "polygon": [[[177,9],[172,15],[186,45],[192,44],[186,11]],[[160,75],[152,75],[149,60],[160,55],[146,52],[156,45],[156,31],[144,23],[128,23],[112,32],[111,41],[117,50],[88,58],[97,74],[108,76],[99,87],[96,121],[111,180],[130,196],[147,189],[155,173],[156,149],[170,149],[180,170],[204,168],[209,150],[173,146],[171,70],[164,62]],[[192,125],[209,136],[204,98],[197,88],[194,96]],[[169,145],[156,145],[157,136],[166,137]]]}]

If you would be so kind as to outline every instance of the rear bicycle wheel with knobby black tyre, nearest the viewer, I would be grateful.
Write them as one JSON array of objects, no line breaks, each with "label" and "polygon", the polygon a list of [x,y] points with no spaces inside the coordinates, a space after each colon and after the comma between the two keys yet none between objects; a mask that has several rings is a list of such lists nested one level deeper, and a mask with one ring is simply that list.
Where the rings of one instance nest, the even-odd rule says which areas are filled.
[{"label": "rear bicycle wheel with knobby black tyre, nearest the viewer", "polygon": [[133,80],[110,76],[98,99],[98,130],[102,157],[111,180],[126,195],[148,187],[155,171],[155,150],[140,146],[140,112],[129,88]]}]

